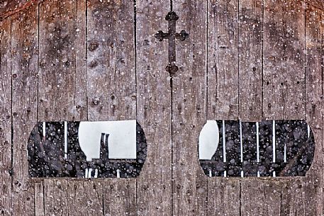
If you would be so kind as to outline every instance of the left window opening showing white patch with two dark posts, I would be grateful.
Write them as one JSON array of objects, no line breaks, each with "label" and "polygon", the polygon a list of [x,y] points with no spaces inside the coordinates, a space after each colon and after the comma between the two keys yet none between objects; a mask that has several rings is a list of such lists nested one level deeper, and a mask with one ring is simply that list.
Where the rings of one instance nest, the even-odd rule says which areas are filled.
[{"label": "left window opening showing white patch with two dark posts", "polygon": [[135,178],[146,154],[135,120],[38,123],[28,140],[29,176]]}]

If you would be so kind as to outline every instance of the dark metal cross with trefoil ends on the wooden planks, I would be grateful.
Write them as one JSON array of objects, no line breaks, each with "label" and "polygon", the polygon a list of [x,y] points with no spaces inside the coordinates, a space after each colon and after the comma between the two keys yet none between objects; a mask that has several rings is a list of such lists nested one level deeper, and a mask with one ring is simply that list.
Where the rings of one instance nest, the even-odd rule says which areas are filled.
[{"label": "dark metal cross with trefoil ends on the wooden planks", "polygon": [[181,30],[180,33],[176,33],[176,21],[179,19],[179,16],[174,11],[170,11],[167,13],[165,17],[167,21],[169,21],[169,32],[164,33],[162,30],[159,30],[158,33],[155,34],[155,38],[159,41],[163,39],[169,40],[169,64],[165,69],[169,72],[170,76],[173,76],[175,72],[178,71],[178,67],[175,64],[176,62],[176,38],[184,41],[186,38],[189,38],[189,34],[186,33],[185,30]]}]

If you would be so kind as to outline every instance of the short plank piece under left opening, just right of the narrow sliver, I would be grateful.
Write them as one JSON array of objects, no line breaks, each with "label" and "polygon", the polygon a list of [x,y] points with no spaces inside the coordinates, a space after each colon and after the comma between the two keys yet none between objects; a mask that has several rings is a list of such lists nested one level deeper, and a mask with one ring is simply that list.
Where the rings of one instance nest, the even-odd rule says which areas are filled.
[{"label": "short plank piece under left opening, just right of the narrow sliver", "polygon": [[[69,215],[69,206],[67,204],[67,181],[55,178],[44,179],[44,196],[45,196],[45,215]],[[75,204],[74,204],[75,205]]]}]

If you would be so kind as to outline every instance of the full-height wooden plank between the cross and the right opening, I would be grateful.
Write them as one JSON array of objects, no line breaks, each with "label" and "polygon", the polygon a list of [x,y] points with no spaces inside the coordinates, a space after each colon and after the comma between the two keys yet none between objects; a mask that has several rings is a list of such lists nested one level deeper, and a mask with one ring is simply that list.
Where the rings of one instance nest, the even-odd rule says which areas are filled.
[{"label": "full-height wooden plank between the cross and the right opening", "polygon": [[179,71],[172,78],[172,214],[206,215],[207,178],[198,161],[199,132],[206,123],[207,2],[174,1]]}]

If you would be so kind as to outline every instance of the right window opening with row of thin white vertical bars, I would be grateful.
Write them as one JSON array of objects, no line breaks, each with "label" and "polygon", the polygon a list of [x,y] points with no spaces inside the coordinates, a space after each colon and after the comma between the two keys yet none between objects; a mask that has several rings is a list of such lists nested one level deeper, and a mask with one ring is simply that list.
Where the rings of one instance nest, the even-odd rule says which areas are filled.
[{"label": "right window opening with row of thin white vertical bars", "polygon": [[306,176],[314,151],[305,120],[208,120],[199,136],[206,176]]}]

